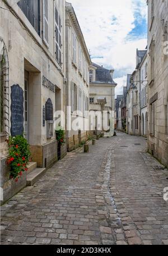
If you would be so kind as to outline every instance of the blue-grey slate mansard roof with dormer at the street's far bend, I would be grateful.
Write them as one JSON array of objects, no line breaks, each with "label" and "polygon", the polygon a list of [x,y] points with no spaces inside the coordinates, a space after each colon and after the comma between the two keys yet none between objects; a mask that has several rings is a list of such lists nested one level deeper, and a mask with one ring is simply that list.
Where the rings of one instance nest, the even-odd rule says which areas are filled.
[{"label": "blue-grey slate mansard roof with dormer at the street's far bend", "polygon": [[96,67],[96,81],[93,82],[93,84],[113,84],[113,85],[117,85],[111,74],[110,74],[110,70],[99,66],[97,64],[95,64],[94,62],[92,62],[92,66]]}]

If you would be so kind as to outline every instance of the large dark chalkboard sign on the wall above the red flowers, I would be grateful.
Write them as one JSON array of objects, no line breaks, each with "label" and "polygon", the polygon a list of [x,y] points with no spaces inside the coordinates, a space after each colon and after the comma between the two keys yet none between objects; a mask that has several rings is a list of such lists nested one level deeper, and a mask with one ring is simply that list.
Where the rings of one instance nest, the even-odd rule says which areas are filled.
[{"label": "large dark chalkboard sign on the wall above the red flowers", "polygon": [[11,135],[24,133],[24,91],[17,85],[11,86]]}]

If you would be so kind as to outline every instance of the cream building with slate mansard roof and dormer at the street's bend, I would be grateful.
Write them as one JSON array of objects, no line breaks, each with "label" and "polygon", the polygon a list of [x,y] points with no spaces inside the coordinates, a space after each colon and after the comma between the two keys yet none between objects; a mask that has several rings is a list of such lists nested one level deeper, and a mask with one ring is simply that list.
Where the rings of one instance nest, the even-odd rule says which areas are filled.
[{"label": "cream building with slate mansard roof and dormer at the street's bend", "polygon": [[[108,70],[92,62],[90,66],[90,104],[105,100],[104,111],[109,113],[109,136],[114,135],[115,87],[114,70]],[[106,126],[104,124],[104,126]]]}]

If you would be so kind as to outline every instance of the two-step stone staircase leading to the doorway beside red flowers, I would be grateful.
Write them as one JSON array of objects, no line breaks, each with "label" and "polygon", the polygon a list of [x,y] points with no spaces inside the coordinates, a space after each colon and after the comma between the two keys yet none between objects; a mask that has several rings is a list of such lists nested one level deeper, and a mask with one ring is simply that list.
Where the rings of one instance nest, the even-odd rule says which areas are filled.
[{"label": "two-step stone staircase leading to the doorway beside red flowers", "polygon": [[46,168],[37,168],[36,162],[29,163],[27,168],[27,186],[34,185],[44,175],[46,170]]}]

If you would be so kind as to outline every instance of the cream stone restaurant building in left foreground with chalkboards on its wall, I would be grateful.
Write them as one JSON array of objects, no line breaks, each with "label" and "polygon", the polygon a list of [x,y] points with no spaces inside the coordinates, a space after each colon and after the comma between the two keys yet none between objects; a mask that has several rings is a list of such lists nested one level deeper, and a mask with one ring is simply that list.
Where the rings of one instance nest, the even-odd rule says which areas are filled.
[{"label": "cream stone restaurant building in left foreground with chalkboards on its wall", "polygon": [[65,106],[65,1],[8,0],[1,7],[1,187],[6,200],[26,186],[28,176],[24,173],[17,184],[9,179],[9,135],[25,132],[31,169],[44,171],[57,161],[54,112]]}]

